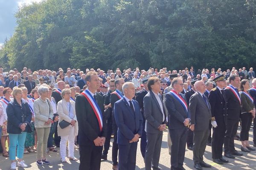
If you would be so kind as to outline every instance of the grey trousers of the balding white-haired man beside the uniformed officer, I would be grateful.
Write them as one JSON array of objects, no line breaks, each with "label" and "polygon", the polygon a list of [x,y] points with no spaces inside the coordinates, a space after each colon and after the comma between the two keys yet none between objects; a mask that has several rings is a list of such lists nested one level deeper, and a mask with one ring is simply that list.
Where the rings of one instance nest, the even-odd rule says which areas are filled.
[{"label": "grey trousers of the balding white-haired man beside the uniformed officer", "polygon": [[195,130],[193,138],[193,161],[195,164],[203,162],[203,155],[209,137],[209,129]]}]

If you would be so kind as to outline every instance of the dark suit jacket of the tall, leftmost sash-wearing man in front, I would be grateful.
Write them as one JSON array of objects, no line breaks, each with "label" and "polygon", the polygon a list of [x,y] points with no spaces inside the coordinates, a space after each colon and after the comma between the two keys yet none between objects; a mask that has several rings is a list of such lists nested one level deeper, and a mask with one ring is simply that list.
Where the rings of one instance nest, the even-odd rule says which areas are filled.
[{"label": "dark suit jacket of the tall, leftmost sash-wearing man in front", "polygon": [[78,122],[79,145],[90,146],[94,145],[93,140],[99,137],[106,137],[106,120],[104,115],[103,98],[96,93],[97,103],[102,111],[102,130],[100,130],[98,119],[93,111],[88,100],[79,94],[76,96],[76,118]]}]

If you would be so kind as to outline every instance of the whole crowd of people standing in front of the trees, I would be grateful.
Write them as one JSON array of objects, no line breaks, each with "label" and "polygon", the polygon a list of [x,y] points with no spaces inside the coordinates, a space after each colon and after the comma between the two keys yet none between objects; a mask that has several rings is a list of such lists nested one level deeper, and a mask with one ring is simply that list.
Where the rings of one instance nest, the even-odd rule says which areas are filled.
[{"label": "whole crowd of people standing in front of the trees", "polygon": [[236,138],[242,152],[255,151],[255,106],[253,68],[196,72],[193,67],[106,72],[0,68],[0,140],[12,170],[28,167],[23,155],[35,151],[38,166],[50,164],[47,153],[58,152],[56,147],[62,163],[78,161],[75,144],[79,144],[79,170],[100,170],[101,160],[108,159],[111,135],[113,170],[135,170],[139,140],[145,170],[159,170],[167,127],[171,170],[184,170],[186,147],[193,151],[194,167],[202,170],[211,167],[203,160],[206,145],[212,147],[212,161],[217,164],[229,162],[223,158],[223,145],[225,157],[243,155],[235,150]]}]

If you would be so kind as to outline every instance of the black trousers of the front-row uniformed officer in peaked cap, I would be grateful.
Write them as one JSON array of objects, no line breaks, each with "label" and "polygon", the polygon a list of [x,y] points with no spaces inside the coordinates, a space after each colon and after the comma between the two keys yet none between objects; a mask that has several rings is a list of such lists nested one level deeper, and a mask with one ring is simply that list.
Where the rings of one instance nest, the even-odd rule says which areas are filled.
[{"label": "black trousers of the front-row uniformed officer in peaked cap", "polygon": [[216,120],[216,122],[218,126],[212,127],[212,159],[222,158],[222,148],[226,132],[224,120]]}]

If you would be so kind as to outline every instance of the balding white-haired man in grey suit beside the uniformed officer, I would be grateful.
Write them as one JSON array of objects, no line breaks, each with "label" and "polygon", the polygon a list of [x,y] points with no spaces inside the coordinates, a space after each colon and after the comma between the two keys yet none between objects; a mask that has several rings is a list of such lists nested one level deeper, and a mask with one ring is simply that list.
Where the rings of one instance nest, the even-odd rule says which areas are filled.
[{"label": "balding white-haired man in grey suit beside the uniformed officer", "polygon": [[209,136],[209,121],[211,119],[211,106],[204,95],[205,84],[203,81],[195,82],[196,93],[189,99],[189,110],[191,113],[190,130],[194,131],[193,139],[193,161],[197,170],[202,167],[211,167],[203,161],[203,155]]}]

